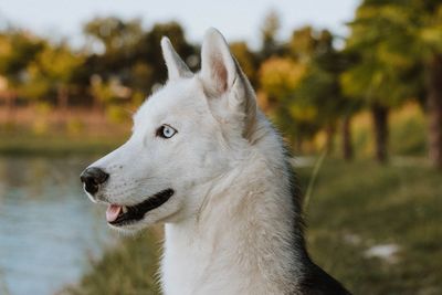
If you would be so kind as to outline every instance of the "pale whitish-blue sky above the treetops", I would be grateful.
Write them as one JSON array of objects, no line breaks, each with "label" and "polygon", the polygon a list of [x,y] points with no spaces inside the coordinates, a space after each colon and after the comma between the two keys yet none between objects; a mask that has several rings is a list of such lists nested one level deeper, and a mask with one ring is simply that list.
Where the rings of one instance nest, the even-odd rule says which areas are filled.
[{"label": "pale whitish-blue sky above the treetops", "polygon": [[[179,21],[189,41],[200,42],[214,27],[229,41],[245,40],[259,46],[264,17],[275,10],[281,17],[280,38],[305,24],[348,31],[359,0],[0,0],[0,25],[11,23],[54,40],[67,38],[81,45],[82,25],[94,17],[140,18],[146,28],[155,22]],[[1,28],[1,27],[0,27]]]}]

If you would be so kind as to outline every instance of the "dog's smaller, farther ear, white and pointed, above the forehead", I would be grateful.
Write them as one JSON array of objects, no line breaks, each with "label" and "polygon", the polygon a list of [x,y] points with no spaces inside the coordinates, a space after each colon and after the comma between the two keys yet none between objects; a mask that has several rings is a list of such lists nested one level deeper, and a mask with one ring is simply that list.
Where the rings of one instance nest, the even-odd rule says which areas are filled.
[{"label": "dog's smaller, farther ear, white and pointed, above the forehead", "polygon": [[191,77],[193,74],[175,51],[170,40],[167,36],[161,39],[162,56],[166,61],[169,80],[179,77]]}]

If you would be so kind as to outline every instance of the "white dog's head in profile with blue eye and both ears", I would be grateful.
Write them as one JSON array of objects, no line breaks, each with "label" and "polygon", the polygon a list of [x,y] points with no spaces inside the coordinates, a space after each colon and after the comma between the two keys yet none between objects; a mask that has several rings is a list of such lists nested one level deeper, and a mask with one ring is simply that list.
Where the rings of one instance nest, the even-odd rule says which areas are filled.
[{"label": "white dog's head in profile with blue eye and both ears", "polygon": [[167,38],[161,48],[168,82],[138,109],[127,143],[81,176],[117,229],[194,217],[211,183],[248,150],[256,122],[254,93],[217,30],[204,36],[196,74]]}]

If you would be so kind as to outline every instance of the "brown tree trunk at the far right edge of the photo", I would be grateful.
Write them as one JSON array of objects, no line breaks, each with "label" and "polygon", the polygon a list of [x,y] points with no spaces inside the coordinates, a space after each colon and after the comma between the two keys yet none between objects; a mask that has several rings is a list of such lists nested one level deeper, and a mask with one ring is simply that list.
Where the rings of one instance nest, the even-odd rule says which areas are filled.
[{"label": "brown tree trunk at the far right edge of the photo", "polygon": [[435,55],[428,65],[429,157],[442,169],[442,55]]}]

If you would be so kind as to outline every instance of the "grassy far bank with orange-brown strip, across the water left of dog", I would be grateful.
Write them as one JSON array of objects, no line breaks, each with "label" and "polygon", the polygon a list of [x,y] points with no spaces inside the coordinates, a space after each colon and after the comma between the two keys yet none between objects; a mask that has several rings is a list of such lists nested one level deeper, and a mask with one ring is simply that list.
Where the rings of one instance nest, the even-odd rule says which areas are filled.
[{"label": "grassy far bank with orange-brown strip, across the water left of dog", "polygon": [[73,108],[64,114],[46,108],[18,108],[9,119],[1,117],[8,113],[0,108],[0,156],[103,155],[130,133],[129,119],[114,122],[91,109]]}]

